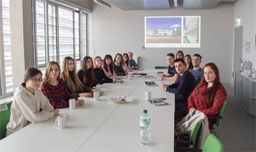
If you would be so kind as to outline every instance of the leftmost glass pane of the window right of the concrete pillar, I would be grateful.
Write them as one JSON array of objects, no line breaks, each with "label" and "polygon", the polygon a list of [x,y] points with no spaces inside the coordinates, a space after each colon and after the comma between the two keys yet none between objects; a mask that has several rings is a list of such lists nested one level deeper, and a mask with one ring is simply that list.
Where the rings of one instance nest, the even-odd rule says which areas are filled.
[{"label": "leftmost glass pane of the window right of the concrete pillar", "polygon": [[45,3],[36,1],[37,64],[46,64],[45,49]]}]

